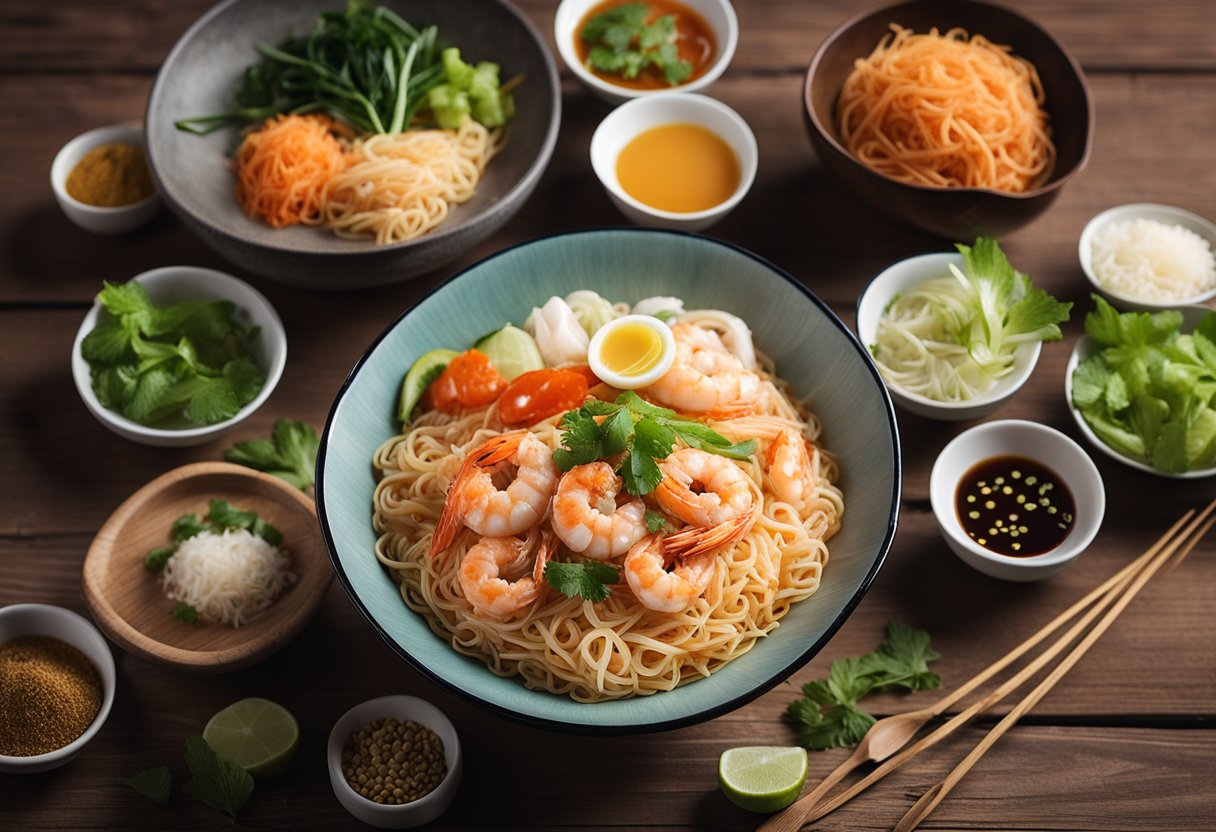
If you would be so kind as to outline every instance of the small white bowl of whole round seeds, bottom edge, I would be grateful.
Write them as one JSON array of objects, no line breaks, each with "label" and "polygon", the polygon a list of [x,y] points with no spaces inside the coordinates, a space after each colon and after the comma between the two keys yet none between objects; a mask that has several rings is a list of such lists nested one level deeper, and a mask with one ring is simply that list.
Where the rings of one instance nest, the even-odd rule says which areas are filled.
[{"label": "small white bowl of whole round seeds, bottom edge", "polygon": [[328,758],[338,802],[382,830],[434,820],[460,785],[456,729],[413,696],[382,696],[348,710],[330,732]]}]

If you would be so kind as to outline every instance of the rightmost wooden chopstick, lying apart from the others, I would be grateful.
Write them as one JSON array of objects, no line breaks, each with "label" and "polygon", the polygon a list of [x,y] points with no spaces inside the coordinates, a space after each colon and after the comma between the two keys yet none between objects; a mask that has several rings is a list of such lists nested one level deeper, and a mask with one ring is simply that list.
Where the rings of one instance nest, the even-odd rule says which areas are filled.
[{"label": "rightmost wooden chopstick, lying apart from the others", "polygon": [[[1006,714],[1004,719],[997,723],[996,726],[979,742],[979,744],[975,746],[975,748],[972,749],[972,752],[963,758],[963,760],[956,765],[941,782],[933,786],[929,791],[921,796],[921,799],[917,800],[916,804],[908,809],[907,814],[900,819],[900,822],[895,825],[895,832],[912,832],[912,830],[921,825],[921,821],[929,816],[929,813],[931,813],[938,804],[941,803],[947,794],[950,794],[953,787],[958,785],[967,772],[972,770],[972,766],[974,766],[979,759],[984,757],[987,749],[991,748],[1010,727],[1013,727],[1013,725],[1021,719],[1023,715],[1034,708],[1038,701],[1042,699],[1047,692],[1064,678],[1073,665],[1075,665],[1077,660],[1085,656],[1086,651],[1093,646],[1093,643],[1102,636],[1103,633],[1107,631],[1111,623],[1119,618],[1119,614],[1127,607],[1127,605],[1131,603],[1132,598],[1136,597],[1136,594],[1144,588],[1144,584],[1148,583],[1158,569],[1165,566],[1165,563],[1173,555],[1175,550],[1178,550],[1178,561],[1190,553],[1190,550],[1195,547],[1195,544],[1198,544],[1199,540],[1207,534],[1207,530],[1211,529],[1212,524],[1216,523],[1216,518],[1209,519],[1204,523],[1204,518],[1212,511],[1214,507],[1216,507],[1216,500],[1209,504],[1207,508],[1187,528],[1187,532],[1183,533],[1180,540],[1171,544],[1170,547],[1167,547],[1156,560],[1153,561],[1153,563],[1150,563],[1141,574],[1136,577],[1131,586],[1127,588],[1103,619],[1098,622],[1098,624],[1096,624],[1088,634],[1086,634],[1085,639],[1082,639],[1081,642],[1073,648],[1073,652],[1069,653],[1064,660],[1062,660],[1059,665],[1057,665],[1055,669],[1052,670],[1051,674],[1048,674],[1048,676],[1035,687],[1035,690],[1028,693],[1021,702],[1014,705],[1013,710]],[[1197,529],[1195,527],[1199,523],[1203,523],[1203,525]],[[1186,541],[1186,545],[1178,549],[1180,544],[1183,541]]]}]

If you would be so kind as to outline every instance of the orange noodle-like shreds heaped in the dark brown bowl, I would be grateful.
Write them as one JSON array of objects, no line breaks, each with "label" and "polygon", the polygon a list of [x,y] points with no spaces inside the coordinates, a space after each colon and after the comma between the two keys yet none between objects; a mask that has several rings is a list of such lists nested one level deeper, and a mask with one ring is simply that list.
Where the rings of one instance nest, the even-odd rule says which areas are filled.
[{"label": "orange noodle-like shreds heaped in the dark brown bowl", "polygon": [[935,187],[1020,193],[1051,175],[1055,147],[1034,64],[963,29],[891,32],[840,90],[837,120],[850,153]]}]

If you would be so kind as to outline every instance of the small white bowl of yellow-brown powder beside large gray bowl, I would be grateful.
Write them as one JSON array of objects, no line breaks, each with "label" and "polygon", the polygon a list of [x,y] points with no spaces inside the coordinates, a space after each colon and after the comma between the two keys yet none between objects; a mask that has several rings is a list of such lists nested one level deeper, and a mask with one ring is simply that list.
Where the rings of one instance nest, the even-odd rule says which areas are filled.
[{"label": "small white bowl of yellow-brown powder beside large gray bowl", "polygon": [[51,190],[67,218],[95,234],[126,234],[161,210],[143,130],[113,124],[80,134],[51,163]]}]

